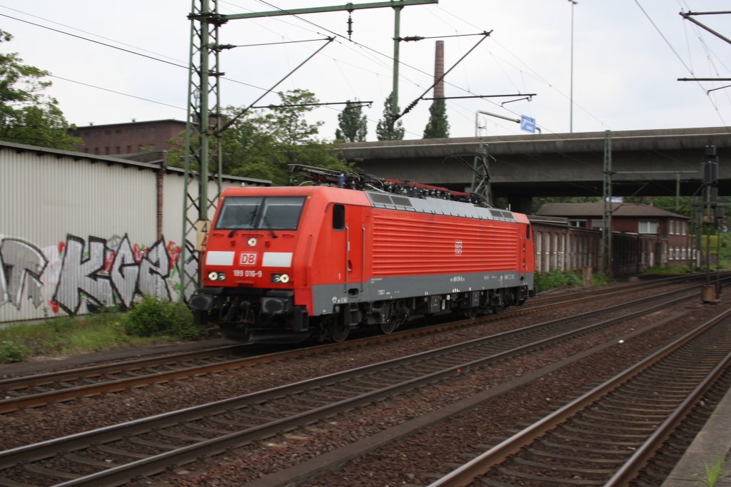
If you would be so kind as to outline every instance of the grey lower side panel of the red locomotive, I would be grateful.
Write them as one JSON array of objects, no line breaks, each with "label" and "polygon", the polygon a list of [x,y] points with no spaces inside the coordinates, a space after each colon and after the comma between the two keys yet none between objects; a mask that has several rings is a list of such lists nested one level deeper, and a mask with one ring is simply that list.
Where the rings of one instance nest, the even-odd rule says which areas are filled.
[{"label": "grey lower side panel of the red locomotive", "polygon": [[313,285],[312,314],[315,316],[330,314],[337,304],[389,301],[523,286],[533,288],[532,272],[374,277],[363,283]]}]

